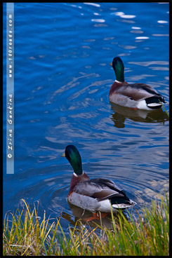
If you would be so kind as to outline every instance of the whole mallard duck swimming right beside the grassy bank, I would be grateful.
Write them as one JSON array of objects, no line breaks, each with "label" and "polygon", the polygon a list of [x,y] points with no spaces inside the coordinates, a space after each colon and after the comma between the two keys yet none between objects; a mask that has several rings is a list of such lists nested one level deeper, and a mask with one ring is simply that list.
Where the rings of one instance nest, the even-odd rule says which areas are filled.
[{"label": "whole mallard duck swimming right beside the grassy bank", "polygon": [[[67,200],[73,205],[91,212],[117,212],[136,203],[131,201],[124,190],[110,179],[90,179],[82,170],[81,156],[74,145],[68,145],[62,154],[74,170]],[[95,213],[96,214],[96,213]]]}]

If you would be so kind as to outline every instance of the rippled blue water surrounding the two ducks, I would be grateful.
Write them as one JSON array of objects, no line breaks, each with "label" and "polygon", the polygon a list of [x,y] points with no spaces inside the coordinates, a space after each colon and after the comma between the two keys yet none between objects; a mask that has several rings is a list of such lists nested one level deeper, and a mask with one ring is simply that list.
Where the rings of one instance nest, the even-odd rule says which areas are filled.
[{"label": "rippled blue water surrounding the two ducks", "polygon": [[[67,203],[68,144],[89,177],[117,182],[138,210],[168,191],[168,116],[108,100],[120,56],[128,83],[147,83],[168,101],[168,4],[15,3],[15,173],[6,175],[4,214],[39,201],[39,215],[74,222]],[[6,80],[4,4],[4,82]],[[168,104],[165,105],[169,111]],[[134,211],[133,211],[134,212]]]}]

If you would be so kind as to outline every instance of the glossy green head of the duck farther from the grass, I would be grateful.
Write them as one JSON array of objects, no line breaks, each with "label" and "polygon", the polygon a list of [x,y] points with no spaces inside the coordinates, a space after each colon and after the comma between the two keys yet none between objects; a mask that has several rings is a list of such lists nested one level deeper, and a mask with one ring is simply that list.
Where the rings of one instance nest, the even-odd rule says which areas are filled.
[{"label": "glossy green head of the duck farther from the grass", "polygon": [[110,64],[114,68],[117,81],[124,82],[124,64],[120,57],[114,57]]}]

